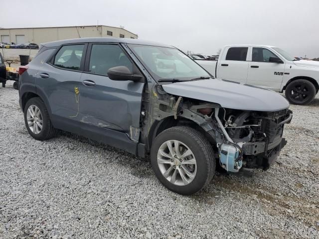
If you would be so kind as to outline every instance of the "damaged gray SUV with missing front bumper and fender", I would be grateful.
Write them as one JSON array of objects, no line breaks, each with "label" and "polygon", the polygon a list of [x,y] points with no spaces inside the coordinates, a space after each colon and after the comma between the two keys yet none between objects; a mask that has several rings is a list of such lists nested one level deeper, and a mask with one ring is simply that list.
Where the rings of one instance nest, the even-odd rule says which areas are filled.
[{"label": "damaged gray SUV with missing front bumper and fender", "polygon": [[137,39],[44,43],[19,74],[33,138],[60,129],[150,156],[160,182],[184,195],[205,187],[216,165],[267,169],[292,119],[278,93],[213,79],[175,47]]}]

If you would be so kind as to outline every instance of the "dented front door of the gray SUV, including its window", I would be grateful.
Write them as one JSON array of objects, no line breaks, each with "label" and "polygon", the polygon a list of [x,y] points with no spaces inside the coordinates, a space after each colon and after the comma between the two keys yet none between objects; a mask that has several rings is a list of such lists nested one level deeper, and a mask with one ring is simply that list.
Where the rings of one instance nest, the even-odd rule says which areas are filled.
[{"label": "dented front door of the gray SUV, including its window", "polygon": [[114,81],[107,76],[115,66],[134,72],[134,63],[119,44],[90,44],[88,55],[79,88],[81,122],[128,134],[131,127],[139,128],[144,83]]}]

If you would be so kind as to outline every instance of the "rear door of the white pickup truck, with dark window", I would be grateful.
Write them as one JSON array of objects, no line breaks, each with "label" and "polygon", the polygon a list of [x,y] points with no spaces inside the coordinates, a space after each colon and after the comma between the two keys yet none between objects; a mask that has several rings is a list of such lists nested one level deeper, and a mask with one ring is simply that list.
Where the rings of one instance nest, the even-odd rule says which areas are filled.
[{"label": "rear door of the white pickup truck, with dark window", "polygon": [[249,47],[226,47],[218,62],[217,78],[246,83]]}]

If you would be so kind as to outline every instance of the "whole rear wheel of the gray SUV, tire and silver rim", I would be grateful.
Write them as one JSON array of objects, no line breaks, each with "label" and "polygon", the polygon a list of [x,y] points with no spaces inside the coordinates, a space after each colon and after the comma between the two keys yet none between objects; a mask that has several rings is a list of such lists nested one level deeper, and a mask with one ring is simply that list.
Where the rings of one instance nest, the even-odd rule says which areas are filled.
[{"label": "whole rear wheel of the gray SUV, tire and silver rim", "polygon": [[37,140],[49,139],[57,134],[45,104],[39,97],[31,98],[24,108],[24,122],[29,134]]}]

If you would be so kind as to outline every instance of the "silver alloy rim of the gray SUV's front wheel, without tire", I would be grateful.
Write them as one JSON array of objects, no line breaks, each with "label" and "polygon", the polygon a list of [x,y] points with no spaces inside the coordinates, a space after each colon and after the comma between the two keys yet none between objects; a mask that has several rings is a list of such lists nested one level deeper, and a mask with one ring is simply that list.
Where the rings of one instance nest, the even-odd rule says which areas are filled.
[{"label": "silver alloy rim of the gray SUV's front wheel, without tire", "polygon": [[196,176],[195,156],[187,145],[178,140],[167,140],[161,144],[157,162],[161,174],[174,185],[185,186]]}]

